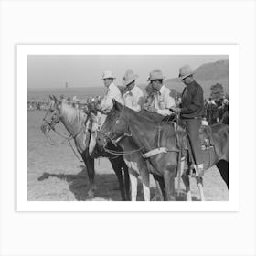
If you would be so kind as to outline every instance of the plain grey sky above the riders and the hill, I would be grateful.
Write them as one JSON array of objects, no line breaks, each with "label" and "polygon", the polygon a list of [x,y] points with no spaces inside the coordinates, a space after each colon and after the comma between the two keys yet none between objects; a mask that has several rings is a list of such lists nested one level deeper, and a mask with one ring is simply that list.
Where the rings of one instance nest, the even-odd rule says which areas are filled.
[{"label": "plain grey sky above the riders and the hill", "polygon": [[188,64],[192,69],[208,62],[228,59],[219,55],[29,55],[27,57],[27,88],[69,88],[103,86],[104,70],[112,70],[115,83],[122,85],[123,74],[133,69],[138,84],[146,83],[149,73],[161,69],[166,78],[178,76],[178,69]]}]

